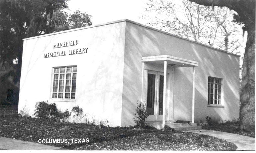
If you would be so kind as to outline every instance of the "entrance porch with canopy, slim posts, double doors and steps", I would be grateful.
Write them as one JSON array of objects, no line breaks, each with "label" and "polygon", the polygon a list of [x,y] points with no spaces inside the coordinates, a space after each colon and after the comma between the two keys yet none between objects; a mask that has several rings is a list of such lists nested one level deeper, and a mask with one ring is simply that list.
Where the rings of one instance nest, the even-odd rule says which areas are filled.
[{"label": "entrance porch with canopy, slim posts, double doors and steps", "polygon": [[[156,128],[186,126],[173,123],[173,78],[174,69],[178,67],[193,67],[192,81],[192,120],[194,123],[195,109],[195,67],[198,62],[169,55],[142,57],[142,99],[147,103],[148,124]],[[159,67],[162,67],[163,69]],[[158,67],[156,70],[155,68]],[[163,71],[162,71],[163,70]],[[161,125],[160,125],[161,124]]]}]

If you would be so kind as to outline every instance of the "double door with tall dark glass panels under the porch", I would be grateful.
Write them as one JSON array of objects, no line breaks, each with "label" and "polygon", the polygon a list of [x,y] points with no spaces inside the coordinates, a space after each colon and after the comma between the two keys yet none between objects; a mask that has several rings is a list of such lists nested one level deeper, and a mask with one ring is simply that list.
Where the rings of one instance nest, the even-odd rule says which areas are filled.
[{"label": "double door with tall dark glass panels under the porch", "polygon": [[[166,82],[166,84],[168,83]],[[163,120],[163,93],[164,74],[160,72],[148,72],[147,112],[149,116],[147,121]]]}]

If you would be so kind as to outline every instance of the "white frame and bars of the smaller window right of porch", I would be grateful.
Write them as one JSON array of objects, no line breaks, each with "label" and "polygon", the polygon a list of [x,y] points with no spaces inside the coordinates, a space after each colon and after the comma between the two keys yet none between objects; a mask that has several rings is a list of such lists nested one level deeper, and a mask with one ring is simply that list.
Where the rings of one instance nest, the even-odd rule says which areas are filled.
[{"label": "white frame and bars of the smaller window right of porch", "polygon": [[[210,81],[210,79],[213,78],[213,82]],[[219,79],[220,83],[217,81],[215,82],[215,79]],[[212,107],[224,107],[223,106],[223,78],[219,77],[213,77],[213,76],[208,76],[208,93],[207,93],[207,104],[208,106]],[[211,84],[213,83],[213,93],[211,93]],[[217,88],[215,88],[215,84],[217,84]],[[220,85],[220,93],[219,93],[219,85]],[[215,99],[215,89],[217,89],[217,99]],[[211,103],[211,94],[213,94],[213,103]],[[220,95],[220,96],[219,96]],[[215,104],[215,100],[217,100],[217,104]]]}]

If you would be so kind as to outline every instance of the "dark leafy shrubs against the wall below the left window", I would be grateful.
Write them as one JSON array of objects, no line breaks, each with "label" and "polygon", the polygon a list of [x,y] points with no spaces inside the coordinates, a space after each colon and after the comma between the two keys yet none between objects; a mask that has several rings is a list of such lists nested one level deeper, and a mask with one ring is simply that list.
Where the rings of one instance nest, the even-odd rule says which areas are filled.
[{"label": "dark leafy shrubs against the wall below the left window", "polygon": [[68,110],[64,112],[58,110],[55,103],[48,104],[48,102],[39,101],[36,103],[34,115],[41,120],[65,122],[69,118],[70,113]]}]

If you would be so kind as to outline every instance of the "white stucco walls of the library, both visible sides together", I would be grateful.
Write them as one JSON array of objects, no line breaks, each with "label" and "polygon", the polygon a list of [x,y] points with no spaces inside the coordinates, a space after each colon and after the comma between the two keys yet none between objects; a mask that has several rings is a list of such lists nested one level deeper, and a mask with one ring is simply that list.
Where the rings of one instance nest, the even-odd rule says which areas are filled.
[{"label": "white stucco walls of the library, both visible sides together", "polygon": [[[55,43],[76,40],[77,46],[53,49]],[[48,52],[76,48],[88,48],[88,51],[44,58]],[[205,120],[206,115],[220,121],[238,118],[239,57],[125,20],[25,40],[18,109],[26,105],[32,115],[36,102],[51,99],[52,67],[77,65],[75,102],[51,102],[62,110],[79,105],[87,116],[98,121],[107,119],[111,126],[134,125],[133,114],[137,100],[141,100],[141,57],[157,55],[199,62],[195,121]],[[154,65],[146,67],[151,69]],[[162,68],[158,65],[155,71],[163,72]],[[174,120],[191,120],[192,68],[168,68],[168,71],[174,72]],[[208,107],[208,76],[223,78],[224,107]]]}]

